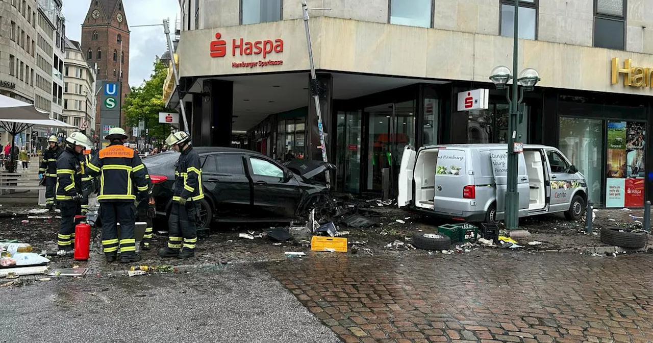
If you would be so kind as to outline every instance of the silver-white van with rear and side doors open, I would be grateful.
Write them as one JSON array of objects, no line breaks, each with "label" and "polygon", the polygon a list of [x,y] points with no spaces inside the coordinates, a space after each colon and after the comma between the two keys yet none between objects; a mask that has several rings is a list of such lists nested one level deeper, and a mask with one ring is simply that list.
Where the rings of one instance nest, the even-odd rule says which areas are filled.
[{"label": "silver-white van with rear and side doors open", "polygon": [[[552,146],[524,145],[518,154],[519,217],[585,211],[585,176]],[[399,207],[460,221],[503,220],[507,144],[406,146],[399,172]]]}]

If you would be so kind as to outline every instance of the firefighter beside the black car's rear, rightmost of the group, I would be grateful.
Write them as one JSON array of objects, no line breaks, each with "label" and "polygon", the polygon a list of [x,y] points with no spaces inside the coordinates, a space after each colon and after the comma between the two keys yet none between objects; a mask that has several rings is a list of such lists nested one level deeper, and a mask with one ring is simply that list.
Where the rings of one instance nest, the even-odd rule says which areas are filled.
[{"label": "firefighter beside the black car's rear, rightmost of the group", "polygon": [[[159,249],[161,257],[185,259],[195,256],[199,201],[204,199],[200,158],[191,146],[191,137],[179,131],[165,140],[168,146],[181,152],[174,171],[172,209],[168,222],[168,246]],[[183,245],[182,245],[183,240]],[[180,251],[181,250],[181,251]]]}]

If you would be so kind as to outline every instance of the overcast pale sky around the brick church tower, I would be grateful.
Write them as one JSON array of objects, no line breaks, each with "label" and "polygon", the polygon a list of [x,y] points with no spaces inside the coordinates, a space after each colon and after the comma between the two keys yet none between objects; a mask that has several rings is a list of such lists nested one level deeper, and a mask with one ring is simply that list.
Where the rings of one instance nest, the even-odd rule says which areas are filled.
[{"label": "overcast pale sky around the brick church tower", "polygon": [[[80,41],[82,22],[91,0],[64,0],[63,16],[66,18],[66,36]],[[174,34],[175,18],[179,17],[178,0],[123,0],[125,18],[131,31],[129,38],[129,86],[140,86],[150,78],[155,56],[167,49],[163,26],[132,27],[133,25],[162,24],[170,18],[170,31]]]}]

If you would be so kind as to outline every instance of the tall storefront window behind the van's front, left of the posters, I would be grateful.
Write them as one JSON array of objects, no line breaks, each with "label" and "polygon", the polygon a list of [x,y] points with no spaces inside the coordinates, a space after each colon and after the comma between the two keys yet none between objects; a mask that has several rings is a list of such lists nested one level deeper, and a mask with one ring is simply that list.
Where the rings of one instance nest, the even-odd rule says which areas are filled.
[{"label": "tall storefront window behind the van's front, left of the posters", "polygon": [[603,205],[603,120],[561,117],[558,147],[585,176],[590,200]]}]

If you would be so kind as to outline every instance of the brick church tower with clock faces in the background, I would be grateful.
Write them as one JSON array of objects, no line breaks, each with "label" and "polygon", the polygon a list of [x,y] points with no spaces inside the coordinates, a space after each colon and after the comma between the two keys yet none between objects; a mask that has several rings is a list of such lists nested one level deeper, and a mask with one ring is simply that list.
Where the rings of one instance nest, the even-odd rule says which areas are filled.
[{"label": "brick church tower with clock faces in the background", "polygon": [[[129,25],[122,0],[91,0],[82,24],[82,53],[91,67],[97,63],[97,87],[103,80],[121,84],[121,106],[129,94]],[[97,91],[97,90],[96,90]],[[95,134],[100,140],[106,133],[100,124],[101,92],[97,93]],[[122,108],[122,107],[121,107]],[[125,128],[125,112],[120,114]],[[128,133],[129,134],[129,133]]]}]

